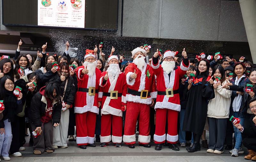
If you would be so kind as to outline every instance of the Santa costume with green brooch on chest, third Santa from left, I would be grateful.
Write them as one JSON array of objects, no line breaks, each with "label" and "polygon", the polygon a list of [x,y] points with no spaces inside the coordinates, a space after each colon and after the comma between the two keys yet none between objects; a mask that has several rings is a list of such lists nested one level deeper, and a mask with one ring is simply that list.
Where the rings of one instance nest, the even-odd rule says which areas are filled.
[{"label": "Santa costume with green brooch on chest, third Santa from left", "polygon": [[[142,52],[143,55],[146,55],[146,50],[135,48],[132,51],[132,57],[137,52]],[[143,55],[138,55],[133,63],[130,63],[125,69],[128,91],[126,94],[127,110],[123,141],[130,148],[134,148],[136,141],[135,127],[137,119],[139,119],[139,144],[144,147],[150,147],[148,144],[150,142],[150,104],[152,104],[152,99],[156,98],[157,92],[155,74],[145,62]],[[130,77],[134,73],[137,74],[135,79]]]}]

